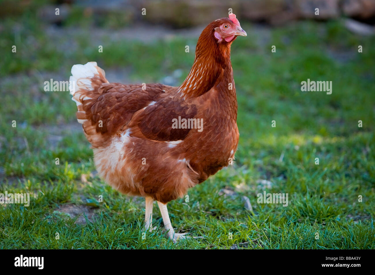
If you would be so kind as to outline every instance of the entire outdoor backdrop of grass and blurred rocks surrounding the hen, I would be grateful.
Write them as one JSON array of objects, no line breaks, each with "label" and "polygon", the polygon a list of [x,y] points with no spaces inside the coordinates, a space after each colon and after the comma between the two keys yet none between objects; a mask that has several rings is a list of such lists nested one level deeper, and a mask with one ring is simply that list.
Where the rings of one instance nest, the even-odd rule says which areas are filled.
[{"label": "entire outdoor backdrop of grass and blurred rocks surrounding the hen", "polygon": [[[235,165],[189,190],[189,204],[171,202],[176,228],[208,236],[180,248],[374,248],[375,0],[0,4],[0,192],[33,197],[28,208],[0,205],[1,248],[169,247],[137,241],[144,200],[98,178],[69,92],[44,82],[96,61],[110,82],[178,86],[199,34],[228,9],[248,33],[231,54],[239,150]],[[332,94],[302,92],[307,79],[332,81]],[[289,206],[257,204],[264,190],[289,193]],[[57,229],[65,238],[50,242]]]}]

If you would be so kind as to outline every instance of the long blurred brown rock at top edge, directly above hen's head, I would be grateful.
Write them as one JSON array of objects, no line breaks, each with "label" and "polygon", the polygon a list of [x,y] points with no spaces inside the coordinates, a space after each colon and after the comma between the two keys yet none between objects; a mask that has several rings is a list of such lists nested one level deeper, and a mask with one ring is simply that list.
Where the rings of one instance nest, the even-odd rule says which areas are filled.
[{"label": "long blurred brown rock at top edge, directly above hen's head", "polygon": [[285,22],[296,17],[291,3],[292,0],[143,0],[136,4],[136,10],[146,8],[146,15],[139,17],[142,20],[184,28],[228,16],[229,8],[240,22],[243,19]]}]

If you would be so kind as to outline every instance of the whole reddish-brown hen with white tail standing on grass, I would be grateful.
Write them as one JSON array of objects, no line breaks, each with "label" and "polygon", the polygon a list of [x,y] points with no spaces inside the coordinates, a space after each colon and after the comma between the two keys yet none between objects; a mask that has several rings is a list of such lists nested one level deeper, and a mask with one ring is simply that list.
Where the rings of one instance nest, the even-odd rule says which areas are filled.
[{"label": "whole reddish-brown hen with white tail standing on grass", "polygon": [[233,13],[208,24],[178,87],[109,83],[96,62],[72,67],[69,90],[98,174],[119,192],[145,197],[146,230],[157,201],[174,242],[189,237],[174,232],[166,204],[234,159],[239,131],[230,49],[237,36],[246,32]]}]

